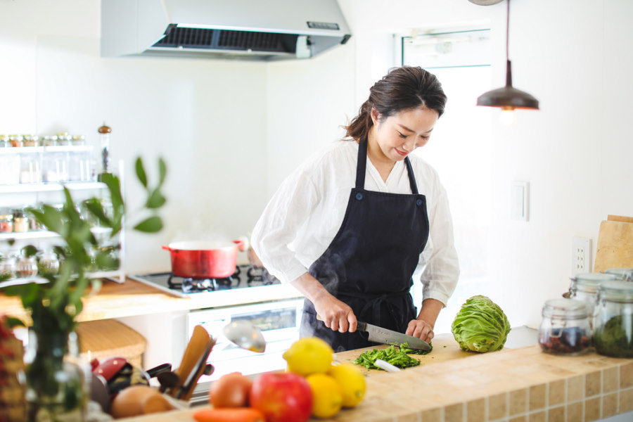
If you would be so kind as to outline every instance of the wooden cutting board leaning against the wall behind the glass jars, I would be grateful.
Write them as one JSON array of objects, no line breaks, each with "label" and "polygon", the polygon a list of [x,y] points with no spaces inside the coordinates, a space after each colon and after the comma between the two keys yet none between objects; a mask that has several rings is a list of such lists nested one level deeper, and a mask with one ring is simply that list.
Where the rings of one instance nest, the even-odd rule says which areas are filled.
[{"label": "wooden cutting board leaning against the wall behind the glass jars", "polygon": [[633,217],[609,215],[600,223],[594,272],[633,268]]}]

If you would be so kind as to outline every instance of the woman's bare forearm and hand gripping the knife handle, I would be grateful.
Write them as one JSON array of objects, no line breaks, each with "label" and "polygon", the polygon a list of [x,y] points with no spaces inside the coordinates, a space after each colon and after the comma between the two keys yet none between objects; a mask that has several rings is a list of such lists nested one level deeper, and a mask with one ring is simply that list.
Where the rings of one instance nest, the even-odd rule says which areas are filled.
[{"label": "woman's bare forearm and hand gripping the knife handle", "polygon": [[290,284],[314,304],[316,314],[321,316],[328,328],[340,333],[356,331],[358,321],[350,305],[335,298],[309,273],[304,273]]}]

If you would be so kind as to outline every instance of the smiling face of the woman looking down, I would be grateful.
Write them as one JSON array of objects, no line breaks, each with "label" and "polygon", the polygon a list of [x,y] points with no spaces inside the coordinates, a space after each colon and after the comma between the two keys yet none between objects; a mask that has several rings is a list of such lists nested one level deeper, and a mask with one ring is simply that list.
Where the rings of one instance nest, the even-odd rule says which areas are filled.
[{"label": "smiling face of the woman looking down", "polygon": [[414,149],[426,145],[439,117],[435,110],[418,107],[382,118],[372,108],[373,137],[385,158],[404,160]]}]

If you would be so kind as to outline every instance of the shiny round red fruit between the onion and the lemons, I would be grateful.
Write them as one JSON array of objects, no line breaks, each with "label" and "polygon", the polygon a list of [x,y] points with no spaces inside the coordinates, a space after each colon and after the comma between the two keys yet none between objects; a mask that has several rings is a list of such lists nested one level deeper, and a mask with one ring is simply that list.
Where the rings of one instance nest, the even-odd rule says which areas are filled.
[{"label": "shiny round red fruit between the onion and the lemons", "polygon": [[296,373],[262,373],[252,382],[249,401],[267,422],[305,422],[312,414],[312,390]]}]

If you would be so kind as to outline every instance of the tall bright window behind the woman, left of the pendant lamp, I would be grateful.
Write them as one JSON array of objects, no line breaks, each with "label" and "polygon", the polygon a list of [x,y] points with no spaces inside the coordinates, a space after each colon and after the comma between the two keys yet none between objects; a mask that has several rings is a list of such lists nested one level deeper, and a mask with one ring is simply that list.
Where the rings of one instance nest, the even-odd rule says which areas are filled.
[{"label": "tall bright window behind the woman, left of the pendant lamp", "polygon": [[[414,153],[440,174],[453,216],[461,276],[435,324],[435,333],[449,333],[467,298],[490,294],[491,127],[487,110],[475,106],[477,97],[492,88],[490,30],[413,32],[396,37],[396,42],[402,65],[421,66],[433,73],[448,96],[445,114],[430,142]],[[418,307],[421,290],[416,282],[414,300]]]}]

